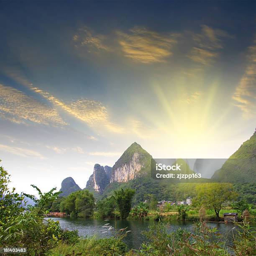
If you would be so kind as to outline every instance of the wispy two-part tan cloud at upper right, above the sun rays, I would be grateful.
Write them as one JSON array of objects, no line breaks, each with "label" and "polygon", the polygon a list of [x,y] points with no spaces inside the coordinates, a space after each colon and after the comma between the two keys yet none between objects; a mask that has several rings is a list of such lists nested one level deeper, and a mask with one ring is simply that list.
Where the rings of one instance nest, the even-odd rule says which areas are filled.
[{"label": "wispy two-part tan cloud at upper right, above the sun rays", "polygon": [[192,38],[196,46],[187,56],[201,65],[210,66],[219,55],[217,50],[223,48],[223,38],[232,36],[223,30],[202,25],[201,33],[192,34]]}]

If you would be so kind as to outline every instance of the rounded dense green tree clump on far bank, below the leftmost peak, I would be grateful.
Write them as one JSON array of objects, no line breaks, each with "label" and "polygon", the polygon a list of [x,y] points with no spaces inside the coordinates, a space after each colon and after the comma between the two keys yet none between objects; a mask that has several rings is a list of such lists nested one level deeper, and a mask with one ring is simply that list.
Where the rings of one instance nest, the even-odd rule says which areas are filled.
[{"label": "rounded dense green tree clump on far bank, below the leftmost peak", "polygon": [[71,193],[60,203],[61,212],[73,217],[91,217],[93,214],[94,197],[88,190]]}]

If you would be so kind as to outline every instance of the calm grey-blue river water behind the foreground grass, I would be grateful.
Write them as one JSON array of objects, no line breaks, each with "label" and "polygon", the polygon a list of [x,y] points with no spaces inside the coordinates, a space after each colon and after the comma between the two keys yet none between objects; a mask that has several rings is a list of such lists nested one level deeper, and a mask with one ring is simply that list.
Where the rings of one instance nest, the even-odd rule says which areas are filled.
[{"label": "calm grey-blue river water behind the foreground grass", "polygon": [[[47,219],[47,218],[46,218]],[[128,245],[129,248],[138,249],[141,246],[141,243],[146,241],[145,237],[141,234],[142,231],[148,230],[149,225],[154,222],[147,220],[95,220],[95,219],[84,219],[84,218],[51,218],[55,221],[59,221],[61,228],[68,230],[78,230],[80,236],[93,236],[96,235],[101,238],[106,238],[112,236],[111,231],[107,233],[102,233],[107,230],[102,228],[102,225],[105,223],[110,223],[110,225],[116,229],[126,228],[131,230],[132,232],[127,234],[124,241]],[[211,228],[217,228],[221,234],[224,235],[225,238],[228,239],[228,243],[232,244],[232,234],[235,232],[236,225],[232,223],[224,224],[224,223],[207,223]],[[166,228],[169,233],[177,230],[178,228],[185,228],[190,232],[195,232],[195,224],[193,222],[179,222],[172,221],[166,223]]]}]

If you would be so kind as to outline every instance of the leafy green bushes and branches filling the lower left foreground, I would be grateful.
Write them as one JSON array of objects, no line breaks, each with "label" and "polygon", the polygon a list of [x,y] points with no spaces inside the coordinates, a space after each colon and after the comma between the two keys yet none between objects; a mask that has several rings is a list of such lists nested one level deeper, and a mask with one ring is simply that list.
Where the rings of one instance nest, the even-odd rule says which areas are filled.
[{"label": "leafy green bushes and branches filling the lower left foreground", "polygon": [[56,246],[62,230],[59,223],[53,220],[44,220],[44,206],[59,196],[59,192],[51,189],[42,193],[37,189],[39,199],[32,195],[37,204],[25,211],[26,202],[23,196],[15,193],[15,189],[8,189],[10,175],[0,167],[0,244],[1,246],[26,247],[28,255],[45,255],[46,251]]}]

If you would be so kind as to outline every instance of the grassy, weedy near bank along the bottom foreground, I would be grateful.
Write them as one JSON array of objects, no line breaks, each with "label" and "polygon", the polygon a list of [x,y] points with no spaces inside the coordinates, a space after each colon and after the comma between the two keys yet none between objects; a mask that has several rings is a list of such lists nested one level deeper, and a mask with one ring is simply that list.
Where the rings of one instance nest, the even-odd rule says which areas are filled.
[{"label": "grassy, weedy near bank along the bottom foreground", "polygon": [[[108,225],[108,224],[105,224]],[[102,226],[104,227],[104,225]],[[106,226],[108,228],[108,226]],[[255,233],[251,231],[248,223],[237,227],[236,234],[233,236],[233,246],[226,245],[225,238],[218,234],[216,228],[209,228],[205,221],[197,223],[195,233],[187,230],[178,229],[173,233],[167,233],[164,223],[156,222],[151,225],[149,230],[144,232],[148,242],[141,244],[141,247],[129,250],[123,242],[129,230],[113,229],[111,238],[79,238],[75,233],[65,240],[59,240],[56,246],[47,251],[46,255],[71,256],[183,256],[183,255],[254,255]]]}]

